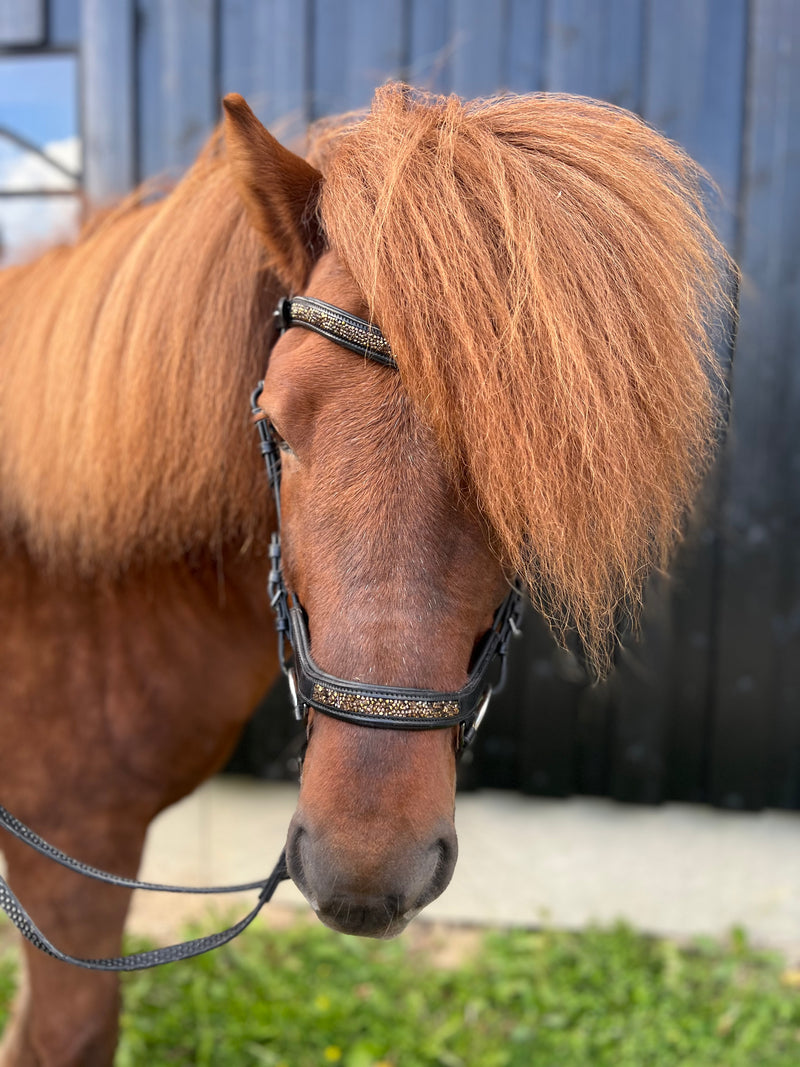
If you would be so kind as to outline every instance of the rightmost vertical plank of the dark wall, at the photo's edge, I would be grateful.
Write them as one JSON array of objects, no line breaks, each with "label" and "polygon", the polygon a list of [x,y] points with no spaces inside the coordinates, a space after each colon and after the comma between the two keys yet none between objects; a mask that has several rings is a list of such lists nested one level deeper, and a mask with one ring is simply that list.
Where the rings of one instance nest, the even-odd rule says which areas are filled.
[{"label": "rightmost vertical plank of the dark wall, at the photo's edge", "polygon": [[710,795],[758,808],[797,802],[800,7],[755,3],[750,49]]}]

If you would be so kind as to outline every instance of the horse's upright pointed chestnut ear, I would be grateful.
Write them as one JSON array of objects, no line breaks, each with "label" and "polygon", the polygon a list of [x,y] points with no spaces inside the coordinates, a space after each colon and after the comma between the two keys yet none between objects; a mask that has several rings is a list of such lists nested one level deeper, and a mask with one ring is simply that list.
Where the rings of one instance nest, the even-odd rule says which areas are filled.
[{"label": "horse's upright pointed chestnut ear", "polygon": [[238,93],[222,102],[230,169],[250,221],[281,281],[300,289],[324,243],[316,211],[322,175],[277,142]]}]

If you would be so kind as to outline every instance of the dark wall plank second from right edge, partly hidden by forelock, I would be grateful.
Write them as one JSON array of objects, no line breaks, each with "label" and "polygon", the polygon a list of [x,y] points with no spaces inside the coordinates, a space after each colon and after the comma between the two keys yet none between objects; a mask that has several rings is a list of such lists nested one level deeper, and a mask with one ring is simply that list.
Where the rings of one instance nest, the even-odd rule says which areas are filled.
[{"label": "dark wall plank second from right edge, partly hidden by forelock", "polygon": [[[718,208],[717,223],[732,243],[731,208],[740,185],[747,4],[679,0],[676,5],[653,4],[646,14],[642,113],[713,170],[727,195],[727,209]],[[669,580],[651,584],[641,640],[621,657],[613,680],[611,782],[619,799],[702,799],[707,792],[717,515],[714,476]]]}]

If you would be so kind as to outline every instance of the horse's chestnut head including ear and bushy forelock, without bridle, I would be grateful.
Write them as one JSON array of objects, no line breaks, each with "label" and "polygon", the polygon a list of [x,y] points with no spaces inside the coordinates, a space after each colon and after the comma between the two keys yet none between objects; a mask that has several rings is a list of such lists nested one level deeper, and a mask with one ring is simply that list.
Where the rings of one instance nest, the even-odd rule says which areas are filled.
[{"label": "horse's chestnut head including ear and bushy forelock, without bridle", "polygon": [[[685,157],[599,107],[575,105],[565,134],[558,107],[531,124],[415,110],[395,87],[361,127],[322,131],[317,169],[241,97],[225,108],[234,181],[287,296],[377,323],[399,368],[306,330],[270,354],[284,577],[316,664],[459,690],[519,575],[602,670],[714,435],[701,305],[718,246]],[[452,875],[459,729],[311,708],[307,731],[290,874],[327,925],[397,934]]]}]

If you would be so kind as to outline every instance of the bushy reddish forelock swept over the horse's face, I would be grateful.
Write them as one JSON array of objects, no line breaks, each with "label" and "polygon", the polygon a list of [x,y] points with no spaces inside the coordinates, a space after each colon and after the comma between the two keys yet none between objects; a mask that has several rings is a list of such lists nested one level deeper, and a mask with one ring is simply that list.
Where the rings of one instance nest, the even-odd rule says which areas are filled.
[{"label": "bushy reddish forelock swept over the horse's face", "polygon": [[325,124],[327,239],[498,555],[609,665],[719,435],[731,269],[703,173],[588,99],[380,90]]}]

